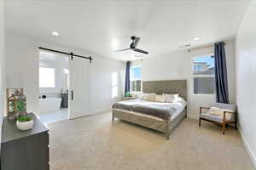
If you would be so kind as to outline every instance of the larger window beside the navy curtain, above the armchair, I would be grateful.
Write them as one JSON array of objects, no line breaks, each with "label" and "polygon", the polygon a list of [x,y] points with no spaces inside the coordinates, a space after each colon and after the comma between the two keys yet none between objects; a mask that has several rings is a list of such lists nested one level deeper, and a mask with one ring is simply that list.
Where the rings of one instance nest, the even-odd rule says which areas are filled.
[{"label": "larger window beside the navy curtain, above the armchair", "polygon": [[207,55],[192,59],[194,94],[215,93],[214,56]]}]

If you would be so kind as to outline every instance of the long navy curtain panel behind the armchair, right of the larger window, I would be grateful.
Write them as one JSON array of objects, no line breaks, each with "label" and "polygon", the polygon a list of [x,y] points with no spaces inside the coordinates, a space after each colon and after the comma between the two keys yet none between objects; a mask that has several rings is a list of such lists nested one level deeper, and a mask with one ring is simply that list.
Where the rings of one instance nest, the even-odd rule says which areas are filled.
[{"label": "long navy curtain panel behind the armchair, right of the larger window", "polygon": [[214,45],[215,56],[215,82],[216,101],[219,103],[229,103],[229,88],[226,66],[226,55],[224,42],[217,42]]}]

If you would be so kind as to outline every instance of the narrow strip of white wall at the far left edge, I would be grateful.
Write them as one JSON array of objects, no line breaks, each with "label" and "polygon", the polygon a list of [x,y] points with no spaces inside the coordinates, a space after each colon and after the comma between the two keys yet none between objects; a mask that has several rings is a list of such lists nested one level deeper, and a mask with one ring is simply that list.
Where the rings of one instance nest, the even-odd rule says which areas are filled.
[{"label": "narrow strip of white wall at the far left edge", "polygon": [[[0,141],[2,137],[3,104],[4,104],[4,27],[3,0],[0,0]],[[0,146],[1,150],[1,146]],[[1,152],[0,152],[1,153]]]}]

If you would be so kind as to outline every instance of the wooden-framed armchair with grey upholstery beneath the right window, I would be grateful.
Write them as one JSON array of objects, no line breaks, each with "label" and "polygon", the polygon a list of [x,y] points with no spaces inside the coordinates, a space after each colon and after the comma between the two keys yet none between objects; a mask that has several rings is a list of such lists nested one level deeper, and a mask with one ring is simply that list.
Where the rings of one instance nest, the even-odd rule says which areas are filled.
[{"label": "wooden-framed armchair with grey upholstery beneath the right window", "polygon": [[224,134],[227,124],[234,124],[236,127],[236,105],[212,103],[207,107],[200,107],[199,127],[201,120],[222,125]]}]

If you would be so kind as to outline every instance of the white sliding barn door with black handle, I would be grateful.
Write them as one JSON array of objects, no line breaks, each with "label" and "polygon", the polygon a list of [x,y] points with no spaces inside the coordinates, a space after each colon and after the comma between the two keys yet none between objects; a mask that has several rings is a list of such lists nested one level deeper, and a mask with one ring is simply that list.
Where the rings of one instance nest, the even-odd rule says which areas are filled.
[{"label": "white sliding barn door with black handle", "polygon": [[69,118],[89,114],[89,61],[73,57],[69,59]]}]

